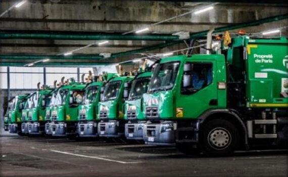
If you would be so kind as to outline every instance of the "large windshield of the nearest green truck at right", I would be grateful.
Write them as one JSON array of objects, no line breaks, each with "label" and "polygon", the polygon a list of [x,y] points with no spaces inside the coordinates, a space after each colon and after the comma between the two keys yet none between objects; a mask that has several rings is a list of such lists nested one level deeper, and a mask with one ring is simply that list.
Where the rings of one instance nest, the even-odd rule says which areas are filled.
[{"label": "large windshield of the nearest green truck at right", "polygon": [[162,63],[156,66],[151,81],[149,92],[172,89],[179,68],[179,62]]}]

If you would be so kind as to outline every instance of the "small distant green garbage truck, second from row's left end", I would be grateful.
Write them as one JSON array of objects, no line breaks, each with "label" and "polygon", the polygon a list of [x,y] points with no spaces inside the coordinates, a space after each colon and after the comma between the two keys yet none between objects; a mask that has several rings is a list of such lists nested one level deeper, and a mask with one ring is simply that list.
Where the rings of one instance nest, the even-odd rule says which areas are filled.
[{"label": "small distant green garbage truck, second from row's left end", "polygon": [[9,101],[8,111],[8,129],[11,134],[22,135],[21,123],[22,123],[22,110],[27,102],[29,94],[22,94],[14,97]]}]

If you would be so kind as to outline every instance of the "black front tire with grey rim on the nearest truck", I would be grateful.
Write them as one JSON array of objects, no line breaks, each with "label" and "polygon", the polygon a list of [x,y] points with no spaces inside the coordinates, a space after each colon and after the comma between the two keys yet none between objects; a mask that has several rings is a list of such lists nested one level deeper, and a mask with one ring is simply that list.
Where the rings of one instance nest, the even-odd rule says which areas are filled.
[{"label": "black front tire with grey rim on the nearest truck", "polygon": [[230,155],[238,145],[239,131],[231,122],[214,119],[202,125],[200,149],[205,155]]}]

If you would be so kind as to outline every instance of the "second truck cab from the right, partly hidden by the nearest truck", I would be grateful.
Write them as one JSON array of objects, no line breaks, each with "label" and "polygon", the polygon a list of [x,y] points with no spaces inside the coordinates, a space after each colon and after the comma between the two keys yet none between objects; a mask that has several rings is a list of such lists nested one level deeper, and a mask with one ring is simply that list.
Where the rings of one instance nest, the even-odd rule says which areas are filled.
[{"label": "second truck cab from the right, partly hidden by the nearest truck", "polygon": [[125,101],[125,137],[130,140],[143,140],[143,127],[146,121],[142,95],[147,93],[152,72],[142,72],[132,81],[128,100]]}]

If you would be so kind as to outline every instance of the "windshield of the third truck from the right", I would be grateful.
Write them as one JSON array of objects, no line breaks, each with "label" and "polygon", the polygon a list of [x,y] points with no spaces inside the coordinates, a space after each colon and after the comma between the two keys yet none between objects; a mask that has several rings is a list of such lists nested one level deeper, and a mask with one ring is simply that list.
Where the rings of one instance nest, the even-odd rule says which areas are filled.
[{"label": "windshield of the third truck from the right", "polygon": [[104,89],[103,100],[114,100],[120,91],[121,81],[108,82]]}]

